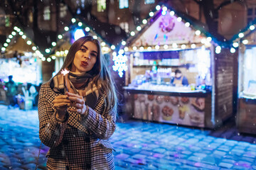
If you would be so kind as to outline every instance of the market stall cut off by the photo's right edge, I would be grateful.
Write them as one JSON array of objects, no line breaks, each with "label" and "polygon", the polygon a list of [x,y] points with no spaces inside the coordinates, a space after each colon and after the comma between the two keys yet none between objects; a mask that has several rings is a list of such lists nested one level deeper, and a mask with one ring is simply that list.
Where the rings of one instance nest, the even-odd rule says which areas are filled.
[{"label": "market stall cut off by the photo's right edge", "polygon": [[[238,115],[240,132],[256,134],[256,32],[255,22],[235,35],[233,45],[239,46]],[[239,43],[238,43],[239,42]]]}]

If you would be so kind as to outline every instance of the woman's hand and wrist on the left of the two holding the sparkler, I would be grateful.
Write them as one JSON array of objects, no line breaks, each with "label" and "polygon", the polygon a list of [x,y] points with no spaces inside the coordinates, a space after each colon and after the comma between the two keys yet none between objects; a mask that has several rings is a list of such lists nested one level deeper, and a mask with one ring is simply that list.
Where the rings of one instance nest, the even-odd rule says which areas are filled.
[{"label": "woman's hand and wrist on the left of the two holding the sparkler", "polygon": [[70,106],[71,101],[68,99],[67,95],[56,96],[53,100],[53,107],[56,108],[57,114],[56,117],[58,119],[64,119],[65,113],[67,111],[68,106]]}]

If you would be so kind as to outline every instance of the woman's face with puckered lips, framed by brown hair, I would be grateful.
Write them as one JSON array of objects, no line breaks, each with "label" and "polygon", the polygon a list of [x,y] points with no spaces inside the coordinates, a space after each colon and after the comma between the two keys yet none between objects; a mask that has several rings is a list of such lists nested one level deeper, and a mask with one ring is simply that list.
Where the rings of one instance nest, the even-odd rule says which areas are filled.
[{"label": "woman's face with puckered lips, framed by brown hair", "polygon": [[80,50],[75,52],[75,58],[71,67],[71,72],[89,72],[97,61],[97,46],[94,42],[85,42]]}]

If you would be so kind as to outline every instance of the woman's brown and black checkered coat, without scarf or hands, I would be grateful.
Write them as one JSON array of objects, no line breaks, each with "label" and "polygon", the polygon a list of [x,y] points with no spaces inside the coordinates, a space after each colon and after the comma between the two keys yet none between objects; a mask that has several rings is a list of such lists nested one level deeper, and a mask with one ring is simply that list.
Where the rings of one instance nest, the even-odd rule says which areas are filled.
[{"label": "woman's brown and black checkered coat, without scarf or hands", "polygon": [[109,142],[116,128],[116,111],[103,113],[104,96],[99,96],[87,116],[68,113],[64,123],[55,118],[53,99],[60,94],[41,86],[38,102],[39,137],[50,147],[48,169],[114,169],[113,147]]}]

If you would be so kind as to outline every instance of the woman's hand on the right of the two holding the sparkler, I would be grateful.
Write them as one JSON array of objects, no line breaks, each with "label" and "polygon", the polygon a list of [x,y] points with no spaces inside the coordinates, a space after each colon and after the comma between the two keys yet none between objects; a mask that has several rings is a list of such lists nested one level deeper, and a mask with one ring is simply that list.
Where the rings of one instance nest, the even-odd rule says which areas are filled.
[{"label": "woman's hand on the right of the two holding the sparkler", "polygon": [[78,94],[72,94],[69,92],[67,92],[66,94],[68,95],[68,98],[71,101],[70,106],[75,107],[75,109],[69,108],[68,111],[77,112],[80,115],[85,115],[87,107],[85,106],[85,101],[82,98],[82,96]]}]

